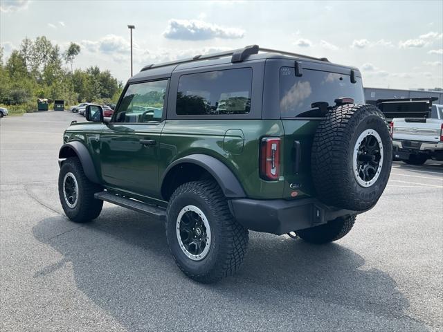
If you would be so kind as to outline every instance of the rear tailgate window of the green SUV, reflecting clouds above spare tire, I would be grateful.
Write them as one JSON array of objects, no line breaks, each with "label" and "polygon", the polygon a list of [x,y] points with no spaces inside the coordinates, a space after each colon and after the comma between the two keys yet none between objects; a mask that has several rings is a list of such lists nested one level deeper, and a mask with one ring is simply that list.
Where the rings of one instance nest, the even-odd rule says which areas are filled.
[{"label": "rear tailgate window of the green SUV, reflecting clouds above spare tire", "polygon": [[[361,77],[351,83],[350,75],[303,69],[301,77],[295,68],[280,68],[280,116],[282,118],[321,118],[336,98],[349,97],[363,104],[365,97]],[[325,104],[327,103],[327,104]]]}]

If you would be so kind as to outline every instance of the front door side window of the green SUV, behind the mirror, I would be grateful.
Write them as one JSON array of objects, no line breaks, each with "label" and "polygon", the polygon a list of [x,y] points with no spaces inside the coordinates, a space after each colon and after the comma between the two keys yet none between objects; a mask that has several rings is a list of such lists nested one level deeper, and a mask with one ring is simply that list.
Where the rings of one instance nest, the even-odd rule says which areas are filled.
[{"label": "front door side window of the green SUV, behind the mirror", "polygon": [[129,85],[116,112],[115,122],[160,122],[167,88],[168,80]]}]

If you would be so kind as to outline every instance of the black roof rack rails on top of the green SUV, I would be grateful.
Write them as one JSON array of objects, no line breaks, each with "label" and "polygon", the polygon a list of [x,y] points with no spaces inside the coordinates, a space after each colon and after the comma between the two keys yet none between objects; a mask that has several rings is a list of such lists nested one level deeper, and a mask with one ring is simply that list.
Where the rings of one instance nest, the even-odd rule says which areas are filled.
[{"label": "black roof rack rails on top of the green SUV", "polygon": [[242,62],[249,55],[257,54],[258,52],[267,52],[267,53],[278,53],[282,55],[290,55],[292,57],[304,57],[305,59],[313,59],[318,61],[329,62],[325,57],[309,57],[308,55],[301,55],[298,53],[285,52],[283,50],[273,50],[271,48],[260,48],[258,45],[249,45],[244,48],[239,48],[237,50],[227,50],[225,52],[212,53],[208,55],[195,55],[195,57],[190,57],[188,59],[175,60],[170,62],[163,62],[161,64],[148,64],[144,66],[141,71],[147,71],[151,68],[159,68],[165,66],[171,66],[173,64],[187,64],[189,62],[195,62],[200,60],[208,60],[208,59],[218,59],[219,57],[228,57],[231,56],[231,62]]}]

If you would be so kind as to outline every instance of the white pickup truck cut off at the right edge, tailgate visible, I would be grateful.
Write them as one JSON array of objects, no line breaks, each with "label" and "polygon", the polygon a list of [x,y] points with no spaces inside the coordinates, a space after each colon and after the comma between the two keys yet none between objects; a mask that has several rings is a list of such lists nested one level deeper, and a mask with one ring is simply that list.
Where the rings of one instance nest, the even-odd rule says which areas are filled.
[{"label": "white pickup truck cut off at the right edge, tailgate visible", "polygon": [[443,160],[443,105],[432,105],[430,118],[394,118],[390,122],[394,157],[412,165]]}]

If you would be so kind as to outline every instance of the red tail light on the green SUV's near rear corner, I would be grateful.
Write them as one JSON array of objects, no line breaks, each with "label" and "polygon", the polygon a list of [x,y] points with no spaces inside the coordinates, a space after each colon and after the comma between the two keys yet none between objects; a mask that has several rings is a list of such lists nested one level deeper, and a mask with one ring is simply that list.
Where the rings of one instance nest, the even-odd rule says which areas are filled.
[{"label": "red tail light on the green SUV's near rear corner", "polygon": [[262,142],[260,142],[260,176],[268,181],[277,181],[280,177],[280,138],[262,138]]}]

